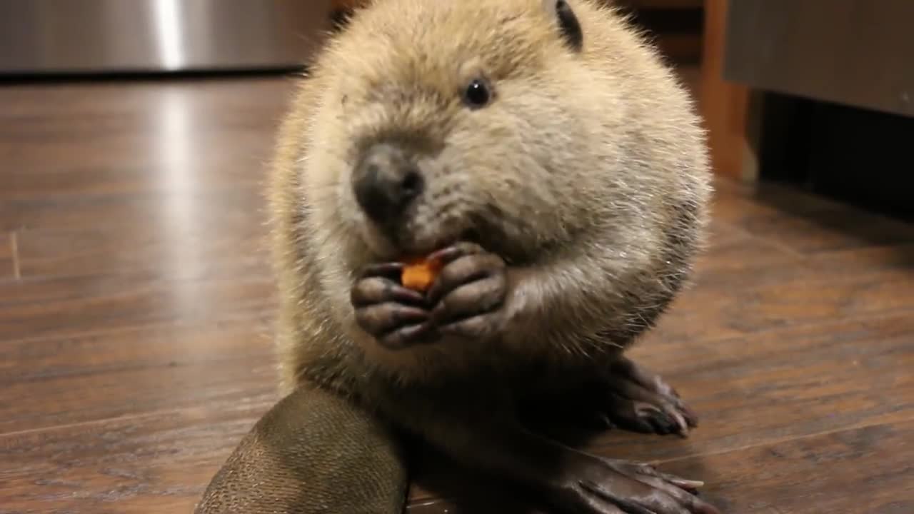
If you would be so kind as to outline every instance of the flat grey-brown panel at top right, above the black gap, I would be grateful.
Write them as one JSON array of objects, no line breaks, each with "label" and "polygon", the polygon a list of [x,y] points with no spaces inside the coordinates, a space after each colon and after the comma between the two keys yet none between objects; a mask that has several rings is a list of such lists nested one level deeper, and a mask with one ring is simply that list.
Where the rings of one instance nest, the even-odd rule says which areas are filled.
[{"label": "flat grey-brown panel at top right, above the black gap", "polygon": [[729,0],[724,78],[914,116],[912,24],[912,0]]}]

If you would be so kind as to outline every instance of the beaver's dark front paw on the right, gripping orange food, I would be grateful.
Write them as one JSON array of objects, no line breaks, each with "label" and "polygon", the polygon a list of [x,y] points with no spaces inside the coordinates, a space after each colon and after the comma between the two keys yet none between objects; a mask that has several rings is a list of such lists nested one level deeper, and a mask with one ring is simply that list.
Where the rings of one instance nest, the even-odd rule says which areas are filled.
[{"label": "beaver's dark front paw on the right, gripping orange food", "polygon": [[505,261],[471,242],[460,242],[430,259],[441,262],[428,301],[431,322],[441,335],[491,337],[505,325]]}]

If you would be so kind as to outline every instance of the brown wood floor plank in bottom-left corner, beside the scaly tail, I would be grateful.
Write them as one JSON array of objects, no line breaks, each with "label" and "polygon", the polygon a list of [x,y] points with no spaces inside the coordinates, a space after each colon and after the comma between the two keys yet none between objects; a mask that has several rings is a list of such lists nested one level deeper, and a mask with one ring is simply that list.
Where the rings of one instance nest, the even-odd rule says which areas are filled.
[{"label": "brown wood floor plank in bottom-left corner, beside the scaly tail", "polygon": [[191,512],[269,405],[226,403],[0,436],[3,512]]}]

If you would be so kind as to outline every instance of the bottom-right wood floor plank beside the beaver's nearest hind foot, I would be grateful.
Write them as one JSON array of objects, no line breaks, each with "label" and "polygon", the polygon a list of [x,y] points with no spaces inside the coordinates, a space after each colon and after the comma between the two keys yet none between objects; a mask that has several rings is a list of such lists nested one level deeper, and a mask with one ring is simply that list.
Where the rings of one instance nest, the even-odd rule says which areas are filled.
[{"label": "bottom-right wood floor plank beside the beaver's nearest hind foot", "polygon": [[[739,514],[829,512],[907,514],[914,511],[909,444],[914,422],[868,425],[760,444],[658,466],[706,481],[702,498]],[[421,500],[412,514],[527,514],[503,495]]]}]

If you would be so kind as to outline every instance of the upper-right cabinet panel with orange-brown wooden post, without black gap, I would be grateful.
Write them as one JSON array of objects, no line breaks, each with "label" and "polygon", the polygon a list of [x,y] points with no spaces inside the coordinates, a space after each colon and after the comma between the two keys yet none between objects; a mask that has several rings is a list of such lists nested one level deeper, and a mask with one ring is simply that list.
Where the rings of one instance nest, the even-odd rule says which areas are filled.
[{"label": "upper-right cabinet panel with orange-brown wooden post, without black gap", "polygon": [[758,175],[768,92],[914,116],[914,2],[706,0],[701,109],[718,173]]}]

